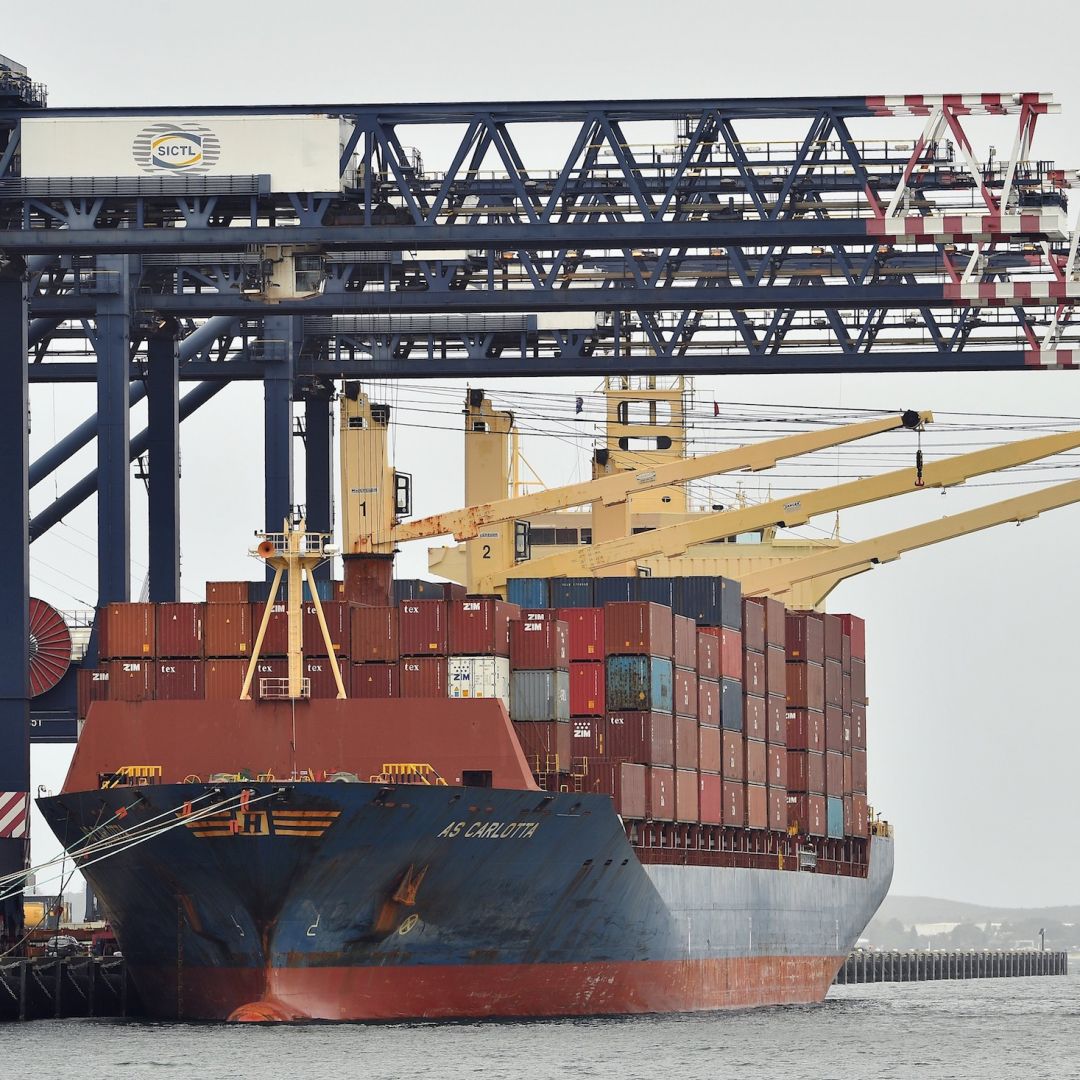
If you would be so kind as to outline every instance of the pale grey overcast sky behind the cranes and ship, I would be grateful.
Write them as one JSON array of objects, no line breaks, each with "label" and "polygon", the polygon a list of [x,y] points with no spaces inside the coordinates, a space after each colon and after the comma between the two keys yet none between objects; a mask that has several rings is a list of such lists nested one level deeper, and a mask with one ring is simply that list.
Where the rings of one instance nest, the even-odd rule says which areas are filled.
[{"label": "pale grey overcast sky behind the cranes and ship", "polygon": [[[323,0],[307,8],[278,0],[257,8],[53,0],[48,17],[31,5],[13,6],[3,27],[0,53],[45,82],[54,106],[1053,91],[1063,112],[1042,119],[1032,157],[1080,165],[1074,53],[1080,9],[1070,4],[1056,5],[1049,24],[1040,24],[1029,9],[997,2],[920,10],[837,0]],[[922,121],[890,123],[900,125],[890,136],[910,139]],[[988,143],[1008,153],[1010,121],[971,130],[983,140],[981,158]],[[540,163],[555,167],[562,159],[553,148],[552,160]],[[388,392],[399,404],[444,410],[441,418],[403,413],[407,422],[453,428],[460,423],[458,390],[447,380],[438,386],[430,391],[437,405],[421,401],[422,383]],[[539,389],[488,382],[496,387]],[[565,406],[544,407],[569,420],[573,395],[594,391],[596,380],[545,380],[542,389],[565,392]],[[1080,422],[1080,372],[700,378],[697,394],[706,403],[1064,415]],[[36,388],[35,455],[92,404],[89,389]],[[140,409],[133,431],[141,418]],[[934,437],[941,436],[928,434],[928,448]],[[577,442],[584,455],[588,438]],[[548,483],[563,483],[584,468],[572,443],[527,440],[525,450]],[[459,435],[402,427],[395,446],[399,467],[417,477],[418,513],[460,501]],[[260,399],[243,386],[185,424],[181,542],[190,598],[201,596],[207,578],[257,576],[244,553],[261,524],[260,447]],[[92,467],[93,450],[62,471],[57,484]],[[1076,475],[1072,469],[1052,478]],[[843,515],[841,527],[849,538],[873,536],[1025,489],[972,485],[945,497],[909,496]],[[55,490],[51,483],[36,489],[35,509]],[[137,592],[146,541],[136,492]],[[93,602],[94,523],[89,504],[33,546],[38,595],[64,608]],[[909,554],[834,594],[832,610],[868,621],[870,801],[896,827],[894,892],[1000,905],[1080,900],[1071,855],[1080,810],[1078,526],[1080,510],[1056,511],[1023,528]],[[422,552],[409,552],[399,572],[422,567]],[[35,783],[58,787],[68,756],[37,747]],[[40,818],[35,828],[41,858],[54,845]]]}]

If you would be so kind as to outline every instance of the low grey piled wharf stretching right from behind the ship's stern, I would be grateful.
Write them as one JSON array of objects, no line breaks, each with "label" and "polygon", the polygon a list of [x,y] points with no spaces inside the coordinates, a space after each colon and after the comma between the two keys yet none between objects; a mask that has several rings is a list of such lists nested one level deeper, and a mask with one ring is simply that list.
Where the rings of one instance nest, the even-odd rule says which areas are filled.
[{"label": "low grey piled wharf stretching right from behind the ship's stern", "polygon": [[1066,953],[1044,949],[945,951],[942,949],[855,949],[834,982],[926,983],[945,978],[1014,978],[1028,975],[1067,975]]}]

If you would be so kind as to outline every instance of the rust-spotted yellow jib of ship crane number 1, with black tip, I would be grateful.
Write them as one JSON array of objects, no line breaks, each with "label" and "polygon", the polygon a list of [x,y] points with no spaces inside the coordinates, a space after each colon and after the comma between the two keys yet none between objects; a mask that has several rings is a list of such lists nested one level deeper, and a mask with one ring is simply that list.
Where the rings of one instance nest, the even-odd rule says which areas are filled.
[{"label": "rust-spotted yellow jib of ship crane number 1, with black tip", "polygon": [[742,470],[758,472],[762,469],[773,468],[783,458],[799,457],[831,446],[852,443],[885,431],[895,431],[897,428],[917,428],[932,421],[933,414],[931,413],[907,410],[877,420],[867,420],[864,423],[826,428],[821,431],[810,431],[750,446],[740,446],[731,450],[706,454],[698,458],[683,458],[671,464],[635,472],[620,472],[611,476],[602,476],[598,480],[583,481],[580,484],[549,488],[546,491],[537,491],[516,499],[500,499],[497,502],[486,502],[468,507],[464,510],[433,514],[430,517],[395,526],[393,539],[396,542],[403,542],[453,534],[456,540],[469,540],[477,536],[484,526],[498,522],[532,517],[555,510],[565,510],[567,507],[578,507],[585,502],[613,505],[625,502],[635,491],[666,487],[671,484],[699,480],[702,476],[712,476],[717,473]]}]

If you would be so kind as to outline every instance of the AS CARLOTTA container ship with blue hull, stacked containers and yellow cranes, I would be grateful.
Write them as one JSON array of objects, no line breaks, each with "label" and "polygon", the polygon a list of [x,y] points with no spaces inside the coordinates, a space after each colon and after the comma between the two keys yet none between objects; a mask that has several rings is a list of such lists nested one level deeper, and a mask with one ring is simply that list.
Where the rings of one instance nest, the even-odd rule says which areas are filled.
[{"label": "AS CARLOTTA container ship with blue hull, stacked containers and yellow cranes", "polygon": [[[39,806],[150,1014],[823,999],[892,875],[867,805],[864,624],[821,610],[875,556],[777,530],[1080,440],[699,509],[688,478],[932,418],[690,458],[684,394],[612,380],[593,478],[523,494],[513,418],[470,391],[465,509],[407,523],[390,410],[347,386],[342,581],[318,572],[332,538],[295,519],[255,552],[272,581],[98,611],[78,748]],[[642,431],[651,448],[630,449]],[[990,524],[962,516],[950,535]],[[445,535],[460,543],[430,559],[446,580],[393,578],[399,544]]]}]

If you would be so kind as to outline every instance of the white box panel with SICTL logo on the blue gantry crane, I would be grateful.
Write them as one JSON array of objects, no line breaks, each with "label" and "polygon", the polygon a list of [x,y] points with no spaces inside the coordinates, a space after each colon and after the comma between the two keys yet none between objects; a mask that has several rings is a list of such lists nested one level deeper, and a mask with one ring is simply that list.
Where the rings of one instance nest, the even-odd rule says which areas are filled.
[{"label": "white box panel with SICTL logo on the blue gantry crane", "polygon": [[25,177],[254,176],[340,191],[341,129],[322,116],[25,118]]}]

